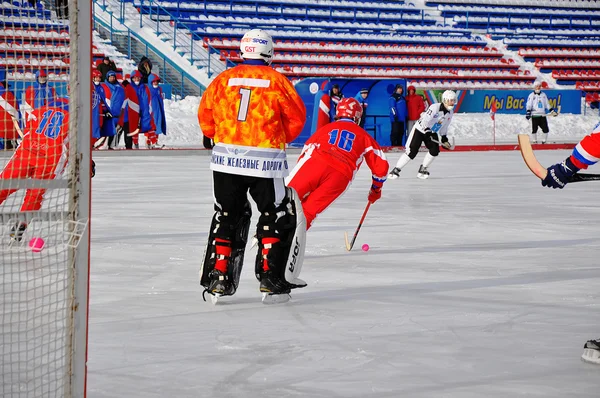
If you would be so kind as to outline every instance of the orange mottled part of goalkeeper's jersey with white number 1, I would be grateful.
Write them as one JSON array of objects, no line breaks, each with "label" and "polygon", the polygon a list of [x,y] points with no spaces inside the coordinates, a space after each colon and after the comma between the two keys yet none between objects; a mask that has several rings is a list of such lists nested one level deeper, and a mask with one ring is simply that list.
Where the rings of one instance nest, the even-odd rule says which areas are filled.
[{"label": "orange mottled part of goalkeeper's jersey with white number 1", "polygon": [[270,66],[241,64],[218,75],[198,108],[215,144],[285,149],[304,127],[306,109],[292,83]]}]

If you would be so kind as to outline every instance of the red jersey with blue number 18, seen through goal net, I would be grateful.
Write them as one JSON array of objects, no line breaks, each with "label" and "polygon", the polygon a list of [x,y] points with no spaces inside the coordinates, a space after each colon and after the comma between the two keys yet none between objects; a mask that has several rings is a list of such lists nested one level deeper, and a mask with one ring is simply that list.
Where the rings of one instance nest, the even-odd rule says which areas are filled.
[{"label": "red jersey with blue number 18, seen through goal net", "polygon": [[32,112],[35,120],[28,123],[19,149],[39,158],[58,160],[67,144],[69,112],[58,107],[43,106]]}]

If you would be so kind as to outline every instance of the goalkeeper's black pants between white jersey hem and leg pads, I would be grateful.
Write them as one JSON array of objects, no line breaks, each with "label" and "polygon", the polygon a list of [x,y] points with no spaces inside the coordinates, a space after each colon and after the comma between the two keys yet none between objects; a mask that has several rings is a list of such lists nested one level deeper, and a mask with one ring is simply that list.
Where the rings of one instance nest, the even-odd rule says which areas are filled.
[{"label": "goalkeeper's black pants between white jersey hem and leg pads", "polygon": [[[215,235],[231,240],[235,226],[243,215],[248,193],[261,214],[258,220],[259,227],[275,225],[276,209],[285,199],[285,183],[283,178],[250,177],[213,171],[213,193],[215,211],[221,213]],[[275,230],[276,228],[271,227],[262,233],[262,236],[276,237]]]}]

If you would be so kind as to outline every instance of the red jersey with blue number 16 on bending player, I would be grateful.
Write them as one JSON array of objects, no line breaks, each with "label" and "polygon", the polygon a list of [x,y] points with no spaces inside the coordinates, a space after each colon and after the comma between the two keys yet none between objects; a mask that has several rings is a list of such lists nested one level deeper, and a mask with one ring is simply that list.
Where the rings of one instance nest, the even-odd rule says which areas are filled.
[{"label": "red jersey with blue number 16 on bending player", "polygon": [[373,173],[373,178],[385,181],[389,164],[381,147],[360,126],[341,119],[329,123],[317,131],[306,141],[302,156],[326,156],[327,163],[340,171],[349,180],[360,168],[363,160]]}]

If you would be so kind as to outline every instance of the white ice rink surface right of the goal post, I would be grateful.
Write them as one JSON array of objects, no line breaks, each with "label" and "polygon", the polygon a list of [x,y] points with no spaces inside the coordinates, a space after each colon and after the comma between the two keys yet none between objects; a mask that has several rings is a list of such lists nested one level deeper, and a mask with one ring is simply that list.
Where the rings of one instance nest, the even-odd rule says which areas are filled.
[{"label": "white ice rink surface right of the goal post", "polygon": [[422,181],[422,158],[347,252],[363,165],[308,232],[291,302],[261,304],[252,249],[213,306],[209,157],[95,152],[88,398],[597,398],[580,355],[600,337],[600,183],[542,188],[518,152],[442,153]]}]

